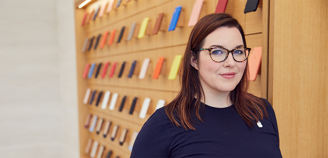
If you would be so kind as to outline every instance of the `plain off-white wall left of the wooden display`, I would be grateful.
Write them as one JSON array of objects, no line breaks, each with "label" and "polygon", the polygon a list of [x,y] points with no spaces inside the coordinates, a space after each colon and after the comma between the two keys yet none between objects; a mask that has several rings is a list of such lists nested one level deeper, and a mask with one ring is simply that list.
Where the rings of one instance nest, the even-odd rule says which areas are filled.
[{"label": "plain off-white wall left of the wooden display", "polygon": [[73,0],[0,0],[0,157],[78,157]]}]

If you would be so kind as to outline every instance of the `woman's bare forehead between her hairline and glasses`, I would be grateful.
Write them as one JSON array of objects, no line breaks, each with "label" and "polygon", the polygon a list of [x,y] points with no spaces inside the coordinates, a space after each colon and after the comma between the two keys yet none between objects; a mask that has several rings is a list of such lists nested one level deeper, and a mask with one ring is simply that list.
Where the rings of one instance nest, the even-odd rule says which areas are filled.
[{"label": "woman's bare forehead between her hairline and glasses", "polygon": [[209,48],[213,45],[221,45],[231,50],[238,45],[243,45],[243,40],[236,27],[219,27],[206,36],[203,48]]}]

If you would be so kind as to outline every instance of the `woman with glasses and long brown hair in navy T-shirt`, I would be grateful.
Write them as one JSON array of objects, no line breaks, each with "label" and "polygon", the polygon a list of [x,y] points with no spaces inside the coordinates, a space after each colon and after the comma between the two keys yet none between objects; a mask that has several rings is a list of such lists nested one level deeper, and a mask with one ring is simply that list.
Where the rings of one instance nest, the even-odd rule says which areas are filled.
[{"label": "woman with glasses and long brown hair in navy T-shirt", "polygon": [[273,108],[247,93],[249,51],[231,15],[201,18],[183,57],[180,93],[147,120],[131,157],[281,157]]}]

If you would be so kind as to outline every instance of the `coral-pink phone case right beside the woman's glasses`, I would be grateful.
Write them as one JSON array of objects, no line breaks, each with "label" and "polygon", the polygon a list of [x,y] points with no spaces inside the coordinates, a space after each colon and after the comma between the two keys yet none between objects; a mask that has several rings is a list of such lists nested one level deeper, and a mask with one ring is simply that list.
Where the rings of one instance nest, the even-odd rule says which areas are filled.
[{"label": "coral-pink phone case right beside the woman's glasses", "polygon": [[262,47],[252,48],[247,59],[250,81],[256,80],[257,73],[261,65],[261,59],[262,59]]}]

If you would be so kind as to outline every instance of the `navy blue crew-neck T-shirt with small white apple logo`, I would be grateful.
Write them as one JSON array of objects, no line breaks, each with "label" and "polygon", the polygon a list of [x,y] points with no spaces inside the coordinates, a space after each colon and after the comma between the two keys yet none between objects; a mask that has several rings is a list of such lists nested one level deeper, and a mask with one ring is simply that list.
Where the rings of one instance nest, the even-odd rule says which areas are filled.
[{"label": "navy blue crew-neck T-shirt with small white apple logo", "polygon": [[204,115],[200,112],[204,123],[198,121],[196,130],[188,131],[175,126],[165,107],[160,108],[141,128],[131,157],[282,157],[276,115],[265,101],[268,118],[254,127],[245,123],[234,105],[204,105]]}]

